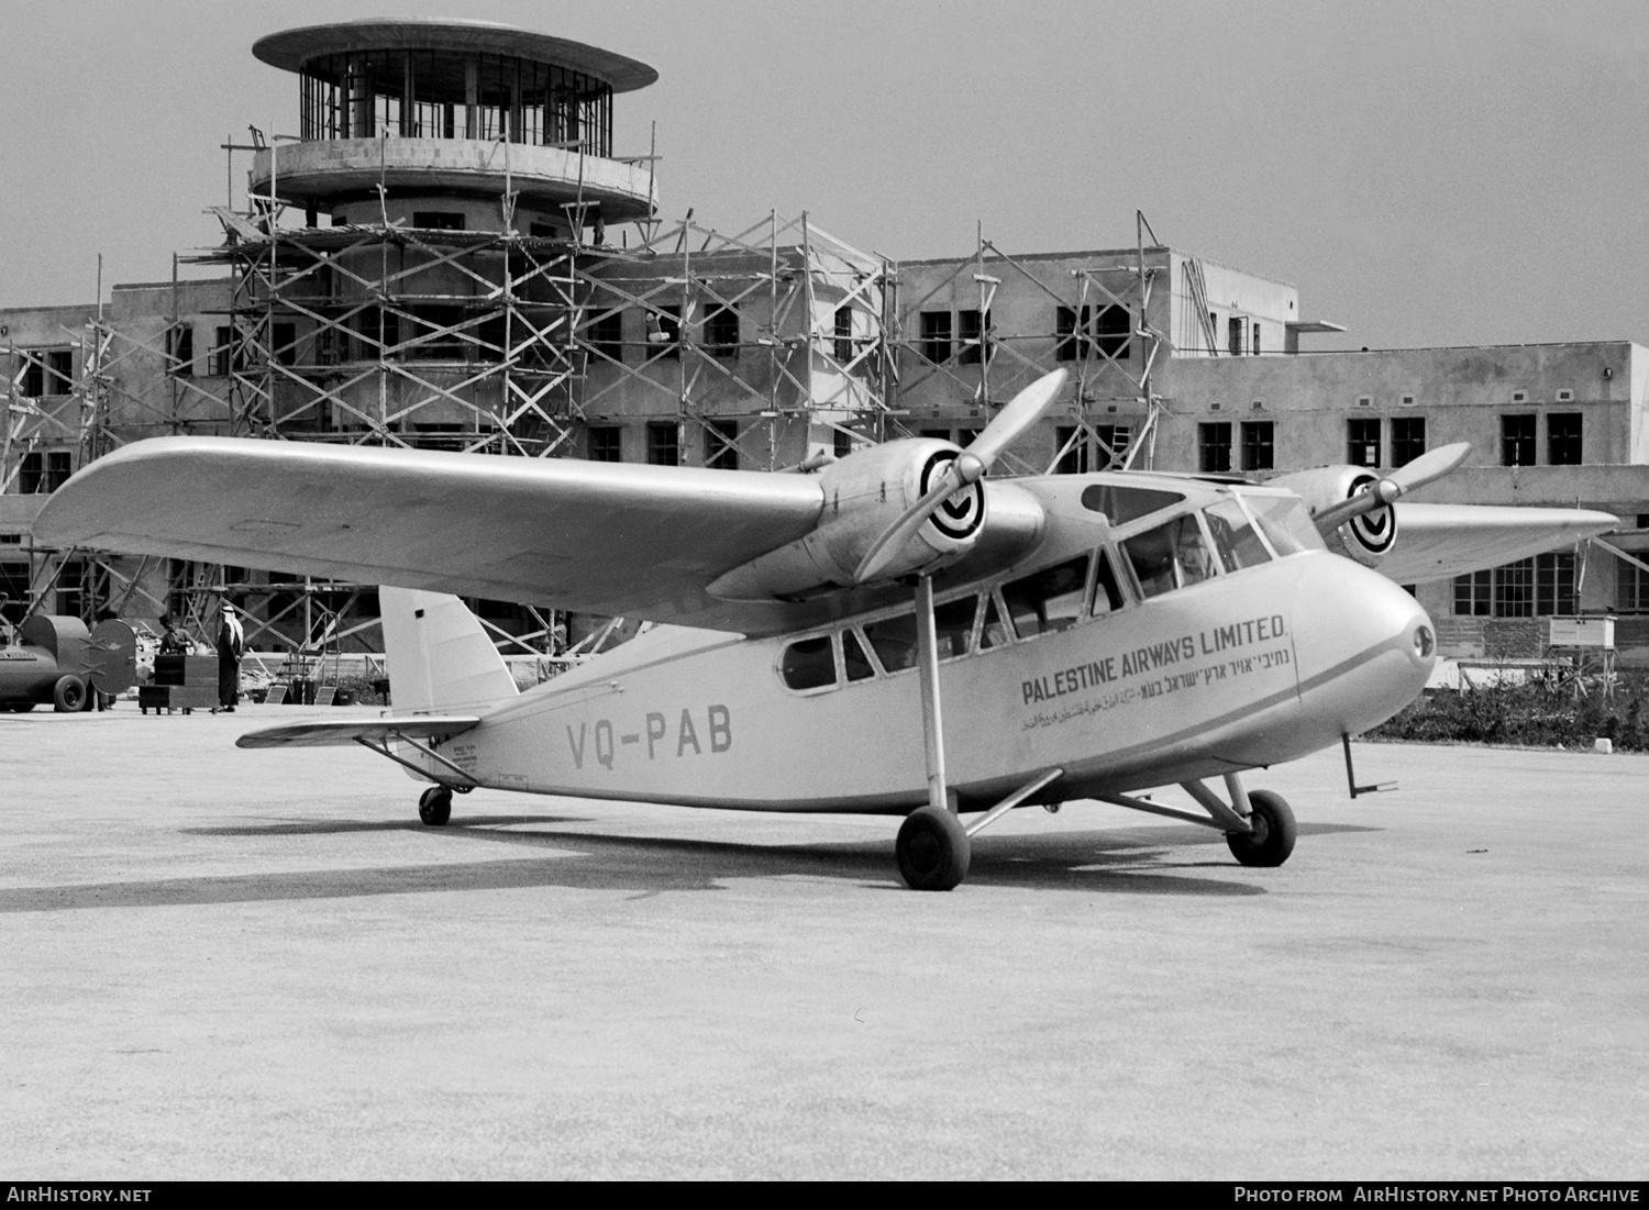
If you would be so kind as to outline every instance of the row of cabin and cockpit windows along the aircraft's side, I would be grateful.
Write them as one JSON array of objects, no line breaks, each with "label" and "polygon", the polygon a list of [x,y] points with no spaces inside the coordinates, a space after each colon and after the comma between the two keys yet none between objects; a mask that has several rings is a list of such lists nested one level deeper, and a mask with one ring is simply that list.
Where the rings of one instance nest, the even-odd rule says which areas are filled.
[{"label": "row of cabin and cockpit windows along the aircraft's side", "polygon": [[[1093,485],[1082,503],[1128,526],[1184,499],[1176,491]],[[940,663],[1057,635],[1217,575],[1322,549],[1304,504],[1285,495],[1229,495],[999,585],[933,605]],[[917,666],[914,608],[790,643],[778,676],[798,692],[894,676]]]}]

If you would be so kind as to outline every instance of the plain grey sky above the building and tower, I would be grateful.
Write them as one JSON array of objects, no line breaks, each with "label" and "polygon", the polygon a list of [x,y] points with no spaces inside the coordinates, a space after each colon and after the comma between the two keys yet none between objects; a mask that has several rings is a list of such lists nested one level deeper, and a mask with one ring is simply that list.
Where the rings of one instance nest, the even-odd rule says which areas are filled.
[{"label": "plain grey sky above the building and tower", "polygon": [[[0,307],[167,280],[214,244],[219,143],[295,134],[265,33],[371,0],[0,0]],[[894,259],[1158,237],[1299,287],[1308,348],[1649,343],[1649,5],[468,3],[641,59],[666,221],[777,209]],[[242,204],[247,160],[234,165]]]}]

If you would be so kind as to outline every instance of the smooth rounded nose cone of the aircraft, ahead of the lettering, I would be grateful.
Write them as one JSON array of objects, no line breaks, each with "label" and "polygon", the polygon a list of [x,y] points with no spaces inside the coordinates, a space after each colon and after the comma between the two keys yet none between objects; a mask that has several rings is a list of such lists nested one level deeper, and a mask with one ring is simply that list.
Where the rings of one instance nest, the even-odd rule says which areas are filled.
[{"label": "smooth rounded nose cone of the aircraft, ahead of the lettering", "polygon": [[1408,592],[1351,559],[1318,556],[1294,590],[1299,697],[1339,730],[1390,719],[1425,689],[1436,628]]}]

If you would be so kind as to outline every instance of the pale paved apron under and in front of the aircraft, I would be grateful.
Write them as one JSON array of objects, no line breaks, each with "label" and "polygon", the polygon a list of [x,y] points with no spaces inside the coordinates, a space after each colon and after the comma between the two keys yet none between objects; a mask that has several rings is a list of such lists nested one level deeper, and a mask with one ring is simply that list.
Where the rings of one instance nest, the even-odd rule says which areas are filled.
[{"label": "pale paved apron under and in front of the aircraft", "polygon": [[[1649,758],[1253,775],[1276,870],[1093,803],[945,895],[895,821],[477,791],[345,711],[0,719],[0,1175],[1644,1179]],[[1176,801],[1181,793],[1163,795]]]}]

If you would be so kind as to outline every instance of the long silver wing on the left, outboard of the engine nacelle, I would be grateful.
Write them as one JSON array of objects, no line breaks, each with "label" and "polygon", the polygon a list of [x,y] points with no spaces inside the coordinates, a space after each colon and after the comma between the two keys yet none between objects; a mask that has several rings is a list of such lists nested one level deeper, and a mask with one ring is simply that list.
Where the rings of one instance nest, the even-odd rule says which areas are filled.
[{"label": "long silver wing on the left, outboard of the engine nacelle", "polygon": [[656,620],[808,534],[798,475],[162,437],[58,490],[35,537]]}]

